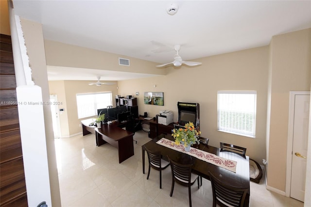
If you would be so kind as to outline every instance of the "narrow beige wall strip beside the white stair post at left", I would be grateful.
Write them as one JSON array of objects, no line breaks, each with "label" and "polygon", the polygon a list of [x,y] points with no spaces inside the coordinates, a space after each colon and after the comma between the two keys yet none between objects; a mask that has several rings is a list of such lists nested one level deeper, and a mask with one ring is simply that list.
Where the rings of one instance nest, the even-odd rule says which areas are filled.
[{"label": "narrow beige wall strip beside the white stair post at left", "polygon": [[[33,81],[35,82],[35,85],[41,87],[42,100],[44,102],[48,102],[50,101],[50,95],[49,95],[47,67],[45,61],[42,25],[25,19],[20,19],[20,21],[24,34],[25,45],[27,48],[27,54],[29,56],[29,65],[32,68]],[[44,112],[44,124],[46,133],[45,139],[48,153],[48,166],[50,174],[52,205],[61,206],[58,172],[55,156],[54,135],[52,128],[51,106],[43,105],[43,112]],[[32,120],[30,119],[30,121]]]}]

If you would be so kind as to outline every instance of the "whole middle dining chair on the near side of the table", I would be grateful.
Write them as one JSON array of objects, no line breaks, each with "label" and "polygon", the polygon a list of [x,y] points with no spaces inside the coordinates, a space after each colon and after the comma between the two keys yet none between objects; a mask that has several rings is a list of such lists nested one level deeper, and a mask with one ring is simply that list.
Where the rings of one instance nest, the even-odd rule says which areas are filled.
[{"label": "whole middle dining chair on the near side of the table", "polygon": [[191,186],[195,183],[195,181],[198,181],[198,189],[200,189],[200,181],[199,181],[199,176],[192,174],[191,173],[191,167],[192,163],[190,164],[181,164],[178,162],[173,161],[172,159],[169,158],[169,162],[171,164],[171,169],[172,169],[172,188],[171,188],[171,193],[170,196],[173,196],[173,191],[174,191],[174,185],[175,182],[178,184],[188,187],[189,191],[189,206],[191,207]]}]

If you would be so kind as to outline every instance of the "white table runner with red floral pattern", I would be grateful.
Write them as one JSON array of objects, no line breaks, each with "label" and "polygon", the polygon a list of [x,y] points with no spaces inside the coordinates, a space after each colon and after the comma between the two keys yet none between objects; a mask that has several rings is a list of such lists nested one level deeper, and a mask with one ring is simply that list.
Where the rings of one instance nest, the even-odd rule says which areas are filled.
[{"label": "white table runner with red floral pattern", "polygon": [[237,168],[237,162],[236,161],[233,161],[230,159],[225,159],[225,158],[219,157],[217,155],[214,155],[214,154],[211,154],[209,152],[205,152],[205,151],[193,148],[193,147],[190,147],[190,151],[186,152],[183,144],[177,145],[177,144],[175,144],[175,142],[168,140],[168,139],[165,139],[165,138],[160,139],[156,143],[163,145],[163,146],[166,146],[166,147],[169,147],[173,150],[189,154],[190,156],[193,156],[197,159],[202,159],[208,163],[214,164],[216,166],[225,168],[227,170],[230,170],[230,171],[236,173],[236,168]]}]

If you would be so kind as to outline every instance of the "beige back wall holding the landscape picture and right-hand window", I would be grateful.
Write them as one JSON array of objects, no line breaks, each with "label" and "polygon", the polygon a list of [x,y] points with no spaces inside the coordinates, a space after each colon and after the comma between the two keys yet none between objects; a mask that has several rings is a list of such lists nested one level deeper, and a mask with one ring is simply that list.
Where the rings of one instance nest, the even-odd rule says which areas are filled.
[{"label": "beige back wall holding the landscape picture and right-hand window", "polygon": [[[119,95],[138,98],[138,112],[154,117],[160,110],[171,110],[178,118],[177,102],[200,104],[200,130],[209,144],[233,143],[247,148],[253,159],[265,158],[268,46],[197,59],[196,67],[169,67],[164,77],[119,81]],[[156,87],[154,87],[156,85]],[[217,91],[256,90],[256,139],[217,131]],[[139,96],[135,96],[139,92]],[[164,106],[143,103],[144,92],[164,92]],[[260,162],[261,163],[261,162]]]}]

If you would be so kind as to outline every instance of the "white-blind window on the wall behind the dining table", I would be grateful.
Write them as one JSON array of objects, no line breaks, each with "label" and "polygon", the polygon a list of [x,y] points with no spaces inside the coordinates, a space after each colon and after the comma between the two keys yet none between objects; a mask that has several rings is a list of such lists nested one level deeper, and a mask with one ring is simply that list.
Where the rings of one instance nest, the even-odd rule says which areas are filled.
[{"label": "white-blind window on the wall behind the dining table", "polygon": [[218,91],[218,130],[255,138],[256,91]]}]

